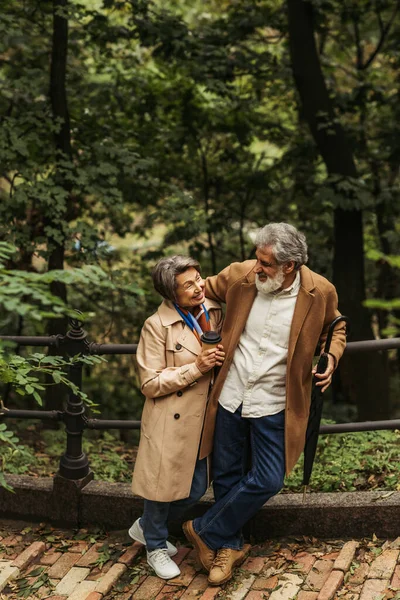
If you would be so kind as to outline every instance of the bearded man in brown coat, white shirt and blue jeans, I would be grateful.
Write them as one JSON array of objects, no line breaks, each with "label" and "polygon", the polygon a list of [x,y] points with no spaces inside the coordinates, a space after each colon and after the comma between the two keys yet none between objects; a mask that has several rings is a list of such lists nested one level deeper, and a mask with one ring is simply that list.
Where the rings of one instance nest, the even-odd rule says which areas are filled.
[{"label": "bearded man in brown coat, white shirt and blue jeans", "polygon": [[[206,281],[206,295],[226,303],[222,343],[226,359],[209,400],[205,429],[215,421],[215,504],[184,523],[209,582],[220,585],[244,559],[242,526],[282,488],[298,460],[308,421],[312,361],[340,313],[334,286],[305,266],[303,234],[271,223],[256,238],[257,260],[233,263]],[[330,385],[345,347],[335,331],[328,367],[317,385]],[[315,372],[315,369],[314,369]],[[250,437],[252,466],[244,454]],[[200,458],[212,444],[204,437]]]}]

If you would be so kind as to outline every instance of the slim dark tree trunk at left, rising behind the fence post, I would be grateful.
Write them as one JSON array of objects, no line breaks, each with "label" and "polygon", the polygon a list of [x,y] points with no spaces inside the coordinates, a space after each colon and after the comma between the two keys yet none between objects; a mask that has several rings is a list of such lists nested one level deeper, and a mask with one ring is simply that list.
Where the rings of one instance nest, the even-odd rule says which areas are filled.
[{"label": "slim dark tree trunk at left, rising behind the fence post", "polygon": [[[68,8],[68,0],[53,0],[53,40],[51,52],[50,68],[50,101],[53,111],[54,121],[60,122],[59,130],[54,134],[55,145],[58,159],[72,160],[70,119],[68,112],[67,91],[66,91],[66,73],[67,73],[67,54],[68,54],[68,19],[65,12]],[[59,176],[59,185],[67,192],[68,204],[70,204],[71,186]],[[66,207],[65,214],[69,214]],[[60,230],[60,224],[49,218],[47,223],[52,228]],[[50,250],[48,269],[64,268],[64,241],[49,238],[48,247]],[[67,300],[67,289],[64,283],[54,282],[51,284],[51,291],[54,295]],[[68,322],[66,318],[51,319],[49,321],[49,334],[66,333]],[[56,349],[50,349],[49,353],[56,354]],[[47,410],[58,409],[62,406],[65,398],[65,390],[61,386],[49,386],[46,389],[46,408]]]}]

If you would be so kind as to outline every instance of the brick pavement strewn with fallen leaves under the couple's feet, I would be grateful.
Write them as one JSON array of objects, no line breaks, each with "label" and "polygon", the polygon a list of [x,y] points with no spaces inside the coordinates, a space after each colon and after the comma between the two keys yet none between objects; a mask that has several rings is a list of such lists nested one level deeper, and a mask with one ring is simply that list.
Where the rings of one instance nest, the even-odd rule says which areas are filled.
[{"label": "brick pavement strewn with fallen leaves under the couple's feet", "polygon": [[400,538],[269,540],[221,588],[208,586],[183,539],[177,545],[181,575],[163,581],[126,532],[0,520],[0,599],[400,600]]}]

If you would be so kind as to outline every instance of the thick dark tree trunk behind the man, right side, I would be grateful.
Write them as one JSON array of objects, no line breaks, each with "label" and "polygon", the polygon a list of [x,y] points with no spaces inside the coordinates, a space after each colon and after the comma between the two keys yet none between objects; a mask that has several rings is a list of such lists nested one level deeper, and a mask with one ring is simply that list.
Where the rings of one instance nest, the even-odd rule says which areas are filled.
[{"label": "thick dark tree trunk behind the man, right side", "polygon": [[[340,179],[357,178],[351,146],[336,118],[322,73],[314,36],[313,7],[305,0],[288,0],[287,6],[289,47],[302,116],[336,183]],[[343,193],[333,185],[337,195]],[[360,210],[339,207],[334,211],[333,282],[339,295],[339,308],[351,319],[351,339],[373,338],[370,315],[362,305],[365,281]],[[368,353],[344,358],[341,374],[344,388],[357,404],[361,420],[390,416],[386,355]]]}]

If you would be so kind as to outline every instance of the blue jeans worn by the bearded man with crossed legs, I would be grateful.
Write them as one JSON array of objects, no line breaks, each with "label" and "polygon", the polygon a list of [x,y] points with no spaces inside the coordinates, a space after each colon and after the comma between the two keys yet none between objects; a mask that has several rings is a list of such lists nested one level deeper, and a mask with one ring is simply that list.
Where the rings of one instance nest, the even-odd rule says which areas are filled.
[{"label": "blue jeans worn by the bearded man with crossed legs", "polygon": [[[285,411],[244,418],[240,406],[231,413],[218,407],[213,470],[215,504],[193,521],[195,531],[212,550],[243,546],[241,529],[285,477]],[[244,453],[251,444],[251,469],[246,473]]]}]

